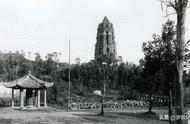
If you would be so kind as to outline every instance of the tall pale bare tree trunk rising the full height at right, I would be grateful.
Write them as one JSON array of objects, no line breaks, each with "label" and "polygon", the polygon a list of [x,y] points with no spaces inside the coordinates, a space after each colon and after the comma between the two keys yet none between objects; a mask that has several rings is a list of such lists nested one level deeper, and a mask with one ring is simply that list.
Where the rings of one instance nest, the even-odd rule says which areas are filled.
[{"label": "tall pale bare tree trunk rising the full height at right", "polygon": [[[183,67],[185,50],[185,15],[186,0],[179,0],[177,6],[177,82],[175,95],[176,115],[182,115],[184,109],[184,91],[183,91]],[[177,120],[177,124],[183,124],[182,120]]]}]

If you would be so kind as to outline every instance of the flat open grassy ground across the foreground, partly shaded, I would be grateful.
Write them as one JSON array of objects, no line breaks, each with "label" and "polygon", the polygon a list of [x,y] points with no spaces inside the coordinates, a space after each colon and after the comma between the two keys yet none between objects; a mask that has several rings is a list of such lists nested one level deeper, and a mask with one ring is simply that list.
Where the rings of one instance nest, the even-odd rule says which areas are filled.
[{"label": "flat open grassy ground across the foreground, partly shaded", "polygon": [[41,110],[15,110],[0,108],[0,124],[168,124],[160,121],[159,114],[167,114],[167,109],[147,110],[100,110],[66,112],[59,108],[48,107]]}]

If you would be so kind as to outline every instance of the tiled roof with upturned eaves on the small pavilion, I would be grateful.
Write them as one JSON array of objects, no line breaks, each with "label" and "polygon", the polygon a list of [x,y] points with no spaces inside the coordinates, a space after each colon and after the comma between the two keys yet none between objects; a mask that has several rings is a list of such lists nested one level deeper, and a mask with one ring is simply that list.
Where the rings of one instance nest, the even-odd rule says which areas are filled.
[{"label": "tiled roof with upturned eaves on the small pavilion", "polygon": [[3,82],[3,85],[7,88],[15,88],[15,89],[42,89],[49,88],[53,86],[53,82],[49,83],[43,80],[40,80],[30,73],[28,75],[23,76],[22,78],[16,79],[12,82]]}]

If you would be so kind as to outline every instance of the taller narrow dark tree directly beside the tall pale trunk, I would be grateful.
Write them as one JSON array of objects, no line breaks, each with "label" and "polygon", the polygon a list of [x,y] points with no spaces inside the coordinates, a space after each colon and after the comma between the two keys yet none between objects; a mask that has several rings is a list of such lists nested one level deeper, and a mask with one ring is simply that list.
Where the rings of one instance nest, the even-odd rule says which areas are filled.
[{"label": "taller narrow dark tree directly beside the tall pale trunk", "polygon": [[176,77],[176,40],[174,39],[175,36],[175,30],[174,30],[174,22],[168,20],[162,28],[162,41],[164,43],[164,47],[166,48],[165,52],[163,53],[163,71],[164,71],[164,84],[166,89],[166,94],[169,98],[169,123],[172,123],[171,115],[172,115],[172,89],[173,84],[172,82],[175,82]]}]

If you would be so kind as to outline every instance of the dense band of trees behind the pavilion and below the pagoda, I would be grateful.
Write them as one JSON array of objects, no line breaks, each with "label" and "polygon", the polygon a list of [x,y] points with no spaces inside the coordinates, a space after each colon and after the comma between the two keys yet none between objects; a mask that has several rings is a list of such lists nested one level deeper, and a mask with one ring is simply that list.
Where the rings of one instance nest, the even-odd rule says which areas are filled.
[{"label": "dense band of trees behind the pavilion and below the pagoda", "polygon": [[[4,81],[12,81],[28,74],[36,76],[39,79],[47,82],[54,82],[52,88],[47,91],[47,101],[50,104],[64,105],[68,98],[68,63],[60,63],[55,61],[54,54],[48,54],[43,60],[39,53],[35,54],[35,61],[26,59],[19,53],[1,53],[0,55],[0,76]],[[128,88],[128,92],[133,93],[139,81],[141,68],[132,63],[120,64],[114,63],[103,66],[97,61],[88,63],[79,63],[80,58],[76,59],[76,64],[71,65],[71,96],[85,96],[92,93],[94,90],[103,90],[103,80],[105,73],[107,78],[107,91],[122,90]],[[110,61],[108,61],[110,62]],[[115,96],[121,95],[115,94]]]}]

